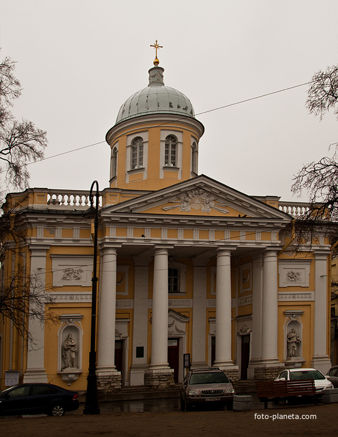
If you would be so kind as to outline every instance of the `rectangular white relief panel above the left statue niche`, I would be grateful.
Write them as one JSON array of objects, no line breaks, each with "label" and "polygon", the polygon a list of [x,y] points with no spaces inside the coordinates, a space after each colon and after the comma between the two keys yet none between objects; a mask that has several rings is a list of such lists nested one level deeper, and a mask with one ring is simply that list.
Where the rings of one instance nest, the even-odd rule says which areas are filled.
[{"label": "rectangular white relief panel above the left statue niche", "polygon": [[91,287],[92,257],[52,254],[51,258],[53,287]]}]

